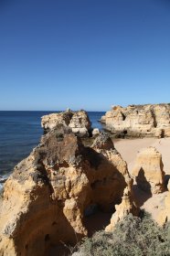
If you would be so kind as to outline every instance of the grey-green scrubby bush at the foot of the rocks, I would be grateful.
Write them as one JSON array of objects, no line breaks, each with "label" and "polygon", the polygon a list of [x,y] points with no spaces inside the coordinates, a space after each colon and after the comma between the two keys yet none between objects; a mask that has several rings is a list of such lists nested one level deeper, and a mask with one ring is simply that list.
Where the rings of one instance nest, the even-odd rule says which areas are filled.
[{"label": "grey-green scrubby bush at the foot of the rocks", "polygon": [[85,238],[79,252],[89,256],[170,256],[170,225],[159,227],[147,213],[141,218],[130,214],[112,233],[100,231]]}]

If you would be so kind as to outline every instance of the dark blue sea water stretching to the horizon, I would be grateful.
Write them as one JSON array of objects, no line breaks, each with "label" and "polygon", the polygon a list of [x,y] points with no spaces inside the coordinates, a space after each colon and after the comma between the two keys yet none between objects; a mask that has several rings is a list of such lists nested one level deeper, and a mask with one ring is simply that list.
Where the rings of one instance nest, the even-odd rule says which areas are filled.
[{"label": "dark blue sea water stretching to the horizon", "polygon": [[[0,176],[9,174],[38,144],[43,134],[41,116],[48,113],[0,112]],[[101,129],[98,120],[104,112],[88,113],[92,127]]]}]

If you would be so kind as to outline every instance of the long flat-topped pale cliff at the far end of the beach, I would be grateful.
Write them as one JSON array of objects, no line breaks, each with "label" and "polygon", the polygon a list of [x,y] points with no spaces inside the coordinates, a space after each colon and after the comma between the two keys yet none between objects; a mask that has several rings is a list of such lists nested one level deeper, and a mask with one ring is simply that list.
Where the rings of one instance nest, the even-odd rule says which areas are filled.
[{"label": "long flat-topped pale cliff at the far end of the beach", "polygon": [[120,136],[170,136],[170,104],[113,106],[101,117],[105,129]]}]

